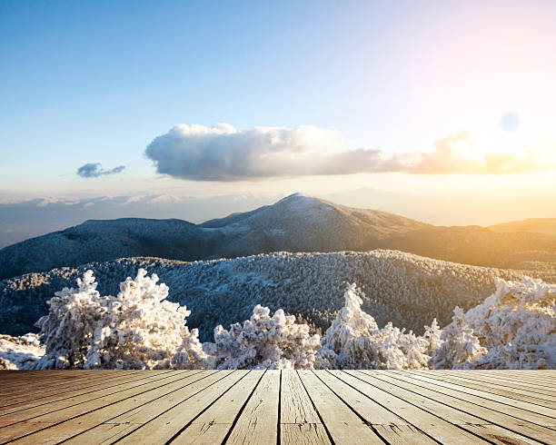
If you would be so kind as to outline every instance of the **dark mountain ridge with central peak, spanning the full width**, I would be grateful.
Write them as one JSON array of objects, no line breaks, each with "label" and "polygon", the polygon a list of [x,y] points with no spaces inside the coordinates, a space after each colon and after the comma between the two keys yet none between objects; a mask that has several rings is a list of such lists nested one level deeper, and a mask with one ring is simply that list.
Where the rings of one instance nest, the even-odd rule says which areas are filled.
[{"label": "dark mountain ridge with central peak, spanning the full width", "polygon": [[[433,226],[295,193],[273,205],[201,224],[177,219],[89,220],[1,249],[0,279],[123,257],[194,261],[263,252],[372,249],[491,267],[556,269],[556,234],[546,232],[552,220],[531,221],[537,223]],[[523,232],[522,226],[546,230]]]}]

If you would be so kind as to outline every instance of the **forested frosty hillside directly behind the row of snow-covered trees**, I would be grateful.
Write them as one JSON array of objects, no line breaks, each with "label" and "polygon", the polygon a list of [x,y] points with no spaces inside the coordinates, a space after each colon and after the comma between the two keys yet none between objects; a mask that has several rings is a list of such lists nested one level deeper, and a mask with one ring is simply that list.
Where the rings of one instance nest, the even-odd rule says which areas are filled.
[{"label": "forested frosty hillside directly behind the row of snow-covered trees", "polygon": [[[249,318],[257,303],[273,311],[301,315],[302,320],[326,328],[343,305],[346,282],[361,287],[362,309],[379,325],[392,321],[422,331],[437,317],[447,324],[456,305],[469,309],[491,294],[495,277],[519,279],[524,272],[488,269],[392,252],[334,252],[261,254],[205,262],[177,262],[155,258],[120,259],[84,264],[78,268],[31,273],[0,282],[2,333],[36,331],[35,321],[47,312],[45,301],[65,286],[74,286],[91,269],[99,292],[115,295],[126,276],[143,267],[170,287],[169,300],[192,311],[187,323],[199,327],[202,340],[213,327]],[[556,273],[527,272],[546,282]]]}]

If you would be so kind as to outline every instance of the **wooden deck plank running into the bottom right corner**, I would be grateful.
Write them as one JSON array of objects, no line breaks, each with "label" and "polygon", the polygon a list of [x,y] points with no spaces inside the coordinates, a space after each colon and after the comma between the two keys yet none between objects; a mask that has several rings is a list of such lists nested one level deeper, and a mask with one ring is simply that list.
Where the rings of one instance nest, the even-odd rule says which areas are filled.
[{"label": "wooden deck plank running into the bottom right corner", "polygon": [[[550,439],[554,436],[554,432],[545,427],[516,419],[515,417],[512,417],[504,412],[491,410],[488,407],[453,397],[451,394],[444,393],[442,388],[438,388],[434,384],[416,381],[409,377],[409,372],[396,372],[396,374],[395,378],[388,377],[387,374],[373,374],[372,377],[383,381],[380,384],[384,384],[384,382],[392,383],[409,391],[421,394],[432,401],[440,401],[446,406],[452,407],[453,410],[472,413],[474,417],[481,419],[481,421],[478,422],[480,425],[498,425],[503,429],[511,430],[517,434],[521,434],[522,436],[540,441],[548,440],[548,442],[550,442]],[[371,375],[367,375],[367,378],[369,379],[372,377]]]}]

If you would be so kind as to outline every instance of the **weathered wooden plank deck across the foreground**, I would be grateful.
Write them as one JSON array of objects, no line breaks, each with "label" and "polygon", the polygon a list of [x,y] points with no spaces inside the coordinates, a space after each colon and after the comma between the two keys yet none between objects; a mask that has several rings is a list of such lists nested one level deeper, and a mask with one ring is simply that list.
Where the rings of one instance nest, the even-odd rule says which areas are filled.
[{"label": "weathered wooden plank deck across the foreground", "polygon": [[556,371],[0,371],[0,443],[556,443]]}]

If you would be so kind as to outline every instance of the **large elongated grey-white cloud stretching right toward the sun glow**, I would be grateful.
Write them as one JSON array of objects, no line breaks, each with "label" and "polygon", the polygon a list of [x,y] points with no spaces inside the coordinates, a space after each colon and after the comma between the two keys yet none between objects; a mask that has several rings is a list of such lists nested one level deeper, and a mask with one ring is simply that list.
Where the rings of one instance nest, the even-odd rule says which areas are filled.
[{"label": "large elongated grey-white cloud stretching right toward the sun glow", "polygon": [[468,132],[450,134],[431,152],[387,155],[375,148],[350,149],[338,132],[313,125],[237,131],[230,124],[180,124],[154,138],[145,155],[158,173],[194,181],[384,172],[521,173],[544,168],[532,154],[469,156],[470,137]]}]

